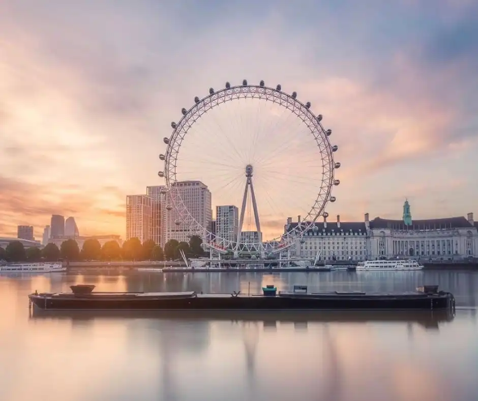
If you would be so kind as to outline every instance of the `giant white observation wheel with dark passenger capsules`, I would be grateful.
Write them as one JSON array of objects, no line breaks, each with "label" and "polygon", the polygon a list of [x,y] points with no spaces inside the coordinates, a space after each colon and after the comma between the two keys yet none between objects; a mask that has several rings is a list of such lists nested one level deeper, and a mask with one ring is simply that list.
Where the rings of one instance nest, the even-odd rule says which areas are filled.
[{"label": "giant white observation wheel with dark passenger capsules", "polygon": [[[166,152],[159,156],[173,224],[220,253],[235,254],[273,254],[316,231],[315,221],[326,218],[327,203],[336,201],[332,189],[340,184],[335,179],[340,163],[334,161],[332,130],[324,129],[322,115],[310,108],[296,92],[288,94],[280,84],[266,87],[264,81],[226,82],[224,89],[195,97],[192,107],[181,110],[180,121],[171,123],[172,133],[163,139]],[[204,211],[192,210],[196,206],[186,199],[182,183],[188,180],[209,187],[213,209],[237,205],[235,222],[216,229],[206,223]],[[306,206],[297,206],[300,202]],[[231,216],[216,216],[217,224],[221,218]]]}]

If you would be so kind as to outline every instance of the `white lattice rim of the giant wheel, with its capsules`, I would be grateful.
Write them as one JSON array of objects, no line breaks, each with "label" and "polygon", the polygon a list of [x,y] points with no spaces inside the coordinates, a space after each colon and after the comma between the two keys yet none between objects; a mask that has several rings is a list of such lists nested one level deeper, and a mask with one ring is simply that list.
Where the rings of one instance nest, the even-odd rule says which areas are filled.
[{"label": "white lattice rim of the giant wheel, with its capsules", "polygon": [[[165,137],[164,142],[167,145],[166,154],[163,156],[164,170],[158,174],[164,177],[168,197],[173,204],[174,209],[180,216],[182,223],[189,224],[190,232],[199,234],[203,240],[206,240],[206,244],[217,251],[259,251],[263,249],[263,243],[276,244],[277,246],[270,246],[268,251],[274,253],[278,250],[286,249],[297,238],[302,238],[304,233],[310,230],[315,225],[315,221],[320,216],[327,215],[324,212],[325,206],[331,199],[335,201],[335,197],[331,196],[332,187],[339,184],[339,180],[335,180],[335,169],[340,167],[340,163],[334,162],[333,153],[337,149],[333,149],[328,135],[331,130],[325,131],[321,124],[322,116],[317,116],[310,110],[310,103],[304,104],[300,100],[296,99],[296,93],[289,94],[282,91],[280,85],[277,88],[266,87],[263,81],[259,85],[247,84],[243,81],[242,85],[231,86],[226,83],[226,88],[218,91],[210,89],[210,94],[199,99],[195,97],[195,103],[188,110],[182,109],[183,116],[177,123],[171,123],[173,131],[170,137]],[[262,241],[260,243],[241,243],[240,240],[232,241],[224,238],[219,238],[206,227],[203,227],[189,212],[188,208],[184,204],[180,191],[174,190],[174,184],[177,183],[177,157],[181,148],[181,144],[184,138],[187,136],[188,131],[194,125],[194,123],[207,111],[210,111],[227,101],[239,100],[239,99],[258,99],[265,101],[272,101],[289,109],[297,118],[307,126],[309,131],[313,134],[317,147],[319,148],[320,158],[322,161],[322,179],[319,185],[319,192],[315,199],[313,206],[307,215],[301,220],[297,221],[295,225],[291,227],[285,224],[287,230],[284,234],[280,235],[273,240]],[[336,148],[336,147],[335,147]],[[162,173],[162,175],[161,175]],[[169,206],[169,205],[168,205]],[[290,228],[290,229],[289,229]],[[214,239],[213,239],[214,237]]]}]

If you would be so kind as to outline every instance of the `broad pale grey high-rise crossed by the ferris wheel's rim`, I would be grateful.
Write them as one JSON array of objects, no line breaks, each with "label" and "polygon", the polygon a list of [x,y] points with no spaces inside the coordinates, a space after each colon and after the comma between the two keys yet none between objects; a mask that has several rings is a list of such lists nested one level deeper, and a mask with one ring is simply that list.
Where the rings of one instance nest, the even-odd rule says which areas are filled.
[{"label": "broad pale grey high-rise crossed by the ferris wheel's rim", "polygon": [[[178,181],[173,184],[173,190],[179,191],[184,206],[202,227],[211,226],[213,211],[211,209],[211,191],[207,185],[201,181]],[[174,207],[171,207],[171,210],[168,209],[166,208],[163,213],[166,226],[164,243],[171,239],[189,242],[190,236],[194,233],[191,233],[190,227],[183,223]]]}]

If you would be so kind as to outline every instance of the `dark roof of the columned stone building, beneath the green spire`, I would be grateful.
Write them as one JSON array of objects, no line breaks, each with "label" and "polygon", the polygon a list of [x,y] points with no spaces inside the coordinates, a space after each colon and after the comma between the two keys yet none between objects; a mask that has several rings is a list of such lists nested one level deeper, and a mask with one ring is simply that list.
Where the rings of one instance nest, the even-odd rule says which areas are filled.
[{"label": "dark roof of the columned stone building, beneath the green spire", "polygon": [[440,228],[472,227],[473,225],[465,217],[412,220],[412,225],[406,225],[402,220],[382,219],[380,217],[375,217],[373,220],[370,220],[370,228],[372,229],[390,228],[392,230],[440,230]]}]

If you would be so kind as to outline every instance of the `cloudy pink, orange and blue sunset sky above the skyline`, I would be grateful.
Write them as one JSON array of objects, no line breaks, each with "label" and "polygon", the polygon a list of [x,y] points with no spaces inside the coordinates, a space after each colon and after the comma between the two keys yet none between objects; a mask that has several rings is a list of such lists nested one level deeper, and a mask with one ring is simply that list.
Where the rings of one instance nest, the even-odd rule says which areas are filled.
[{"label": "cloudy pink, orange and blue sunset sky above the skyline", "polygon": [[[331,216],[400,219],[405,198],[413,218],[478,213],[478,4],[472,0],[3,0],[0,31],[2,236],[31,224],[41,238],[58,213],[74,216],[81,235],[124,237],[126,195],[164,183],[158,155],[171,121],[194,96],[243,79],[280,83],[323,114],[342,164],[337,202],[326,207]],[[255,116],[273,121],[272,108],[257,110]],[[220,111],[223,127],[230,119]],[[231,125],[239,142],[244,124]],[[288,124],[280,138],[292,129]],[[229,148],[206,131],[196,142],[185,138],[183,156],[202,144],[211,167]],[[273,154],[277,142],[263,141],[261,152]],[[317,193],[317,168],[290,152],[298,149],[292,142],[271,167],[286,171],[288,180],[272,184],[262,176],[275,191],[270,202],[257,173],[264,230],[280,230]],[[199,171],[190,178],[210,187],[213,204],[240,206],[241,171],[239,195],[221,198],[212,173],[184,160]],[[178,165],[181,178],[188,168]],[[281,197],[286,193],[305,199],[297,213],[292,197],[287,205]]]}]

